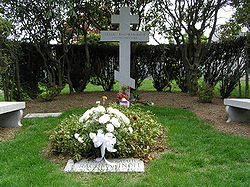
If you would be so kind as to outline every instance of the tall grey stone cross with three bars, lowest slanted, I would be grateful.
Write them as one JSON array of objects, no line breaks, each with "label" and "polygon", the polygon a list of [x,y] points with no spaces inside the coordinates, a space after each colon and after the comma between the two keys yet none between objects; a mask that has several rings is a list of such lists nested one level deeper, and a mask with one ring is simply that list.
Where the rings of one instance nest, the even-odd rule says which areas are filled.
[{"label": "tall grey stone cross with three bars, lowest slanted", "polygon": [[135,88],[135,80],[130,77],[130,42],[149,41],[149,32],[131,31],[131,24],[139,24],[138,15],[130,15],[129,7],[122,7],[120,15],[111,16],[112,24],[119,24],[119,31],[101,31],[101,41],[119,41],[119,71],[115,71],[115,80],[120,86]]}]

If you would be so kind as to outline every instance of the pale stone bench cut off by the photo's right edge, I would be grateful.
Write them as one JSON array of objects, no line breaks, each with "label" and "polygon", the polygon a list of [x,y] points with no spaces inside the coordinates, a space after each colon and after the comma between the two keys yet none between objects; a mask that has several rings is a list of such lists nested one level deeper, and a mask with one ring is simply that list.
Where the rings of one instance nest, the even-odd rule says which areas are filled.
[{"label": "pale stone bench cut off by the photo's right edge", "polygon": [[250,122],[250,99],[224,99],[229,122]]}]

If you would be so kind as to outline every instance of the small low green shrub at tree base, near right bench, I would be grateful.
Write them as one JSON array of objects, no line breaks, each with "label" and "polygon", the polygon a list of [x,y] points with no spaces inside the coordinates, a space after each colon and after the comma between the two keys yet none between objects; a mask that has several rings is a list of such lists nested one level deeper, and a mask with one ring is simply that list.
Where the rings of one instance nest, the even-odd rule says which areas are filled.
[{"label": "small low green shrub at tree base, near right bench", "polygon": [[198,96],[199,96],[199,102],[201,103],[212,103],[212,100],[214,98],[214,87],[203,82],[199,86],[198,90]]}]

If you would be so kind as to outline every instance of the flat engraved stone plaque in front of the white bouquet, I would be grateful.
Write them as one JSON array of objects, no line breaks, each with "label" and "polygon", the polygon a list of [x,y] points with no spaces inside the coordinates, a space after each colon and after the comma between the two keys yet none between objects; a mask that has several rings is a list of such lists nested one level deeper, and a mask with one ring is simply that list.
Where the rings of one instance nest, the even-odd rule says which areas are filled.
[{"label": "flat engraved stone plaque in front of the white bouquet", "polygon": [[104,160],[81,160],[74,163],[68,160],[65,172],[144,172],[143,161],[135,158],[109,159],[112,165],[107,164]]}]

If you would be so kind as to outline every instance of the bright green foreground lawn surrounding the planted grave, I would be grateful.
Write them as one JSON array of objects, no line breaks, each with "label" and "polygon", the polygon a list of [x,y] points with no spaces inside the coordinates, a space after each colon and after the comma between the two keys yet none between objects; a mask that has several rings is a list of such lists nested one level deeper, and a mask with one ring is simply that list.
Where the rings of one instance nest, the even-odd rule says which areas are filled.
[{"label": "bright green foreground lawn surrounding the planted grave", "polygon": [[250,140],[216,132],[188,110],[145,107],[168,129],[168,151],[145,173],[64,173],[41,150],[58,118],[23,120],[16,137],[0,143],[0,186],[250,186]]}]

